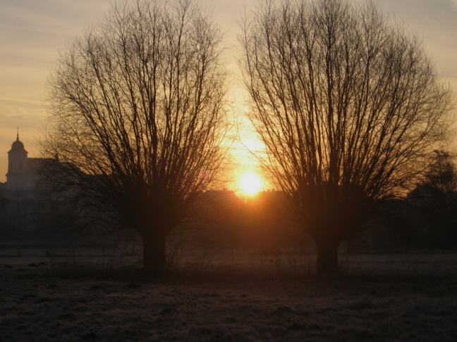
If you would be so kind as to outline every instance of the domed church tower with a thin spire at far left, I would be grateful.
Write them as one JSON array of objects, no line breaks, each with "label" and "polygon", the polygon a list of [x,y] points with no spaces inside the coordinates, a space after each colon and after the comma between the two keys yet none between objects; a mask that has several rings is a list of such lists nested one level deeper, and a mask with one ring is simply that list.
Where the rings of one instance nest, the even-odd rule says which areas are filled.
[{"label": "domed church tower with a thin spire at far left", "polygon": [[27,162],[28,152],[24,144],[19,140],[19,132],[16,141],[8,151],[8,173],[6,174],[6,190],[23,191],[30,190],[30,172]]}]

